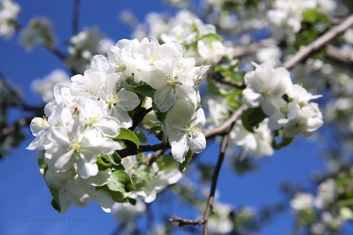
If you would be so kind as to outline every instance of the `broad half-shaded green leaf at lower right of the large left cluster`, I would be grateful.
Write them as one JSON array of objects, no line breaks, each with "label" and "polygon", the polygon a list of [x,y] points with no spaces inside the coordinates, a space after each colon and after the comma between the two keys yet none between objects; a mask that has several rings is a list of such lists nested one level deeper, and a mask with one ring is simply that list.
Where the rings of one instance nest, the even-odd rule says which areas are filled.
[{"label": "broad half-shaded green leaf at lower right of the large left cluster", "polygon": [[116,170],[112,172],[110,179],[110,182],[107,184],[108,188],[113,191],[121,192],[124,197],[129,195],[129,192],[135,190],[132,185],[130,175],[128,175],[125,171]]}]

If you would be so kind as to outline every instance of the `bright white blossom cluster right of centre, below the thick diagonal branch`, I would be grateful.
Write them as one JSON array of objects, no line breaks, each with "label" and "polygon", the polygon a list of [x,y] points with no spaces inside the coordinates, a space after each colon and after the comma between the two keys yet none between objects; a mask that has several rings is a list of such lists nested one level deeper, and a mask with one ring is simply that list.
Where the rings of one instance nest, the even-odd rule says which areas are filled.
[{"label": "bright white blossom cluster right of centre, below the thick diagonal branch", "polygon": [[313,95],[302,86],[293,85],[290,73],[283,67],[274,68],[270,63],[254,63],[254,66],[255,71],[244,76],[243,102],[250,108],[260,106],[269,117],[271,130],[282,129],[287,138],[299,133],[306,137],[323,125],[318,104],[309,103],[322,95]]}]

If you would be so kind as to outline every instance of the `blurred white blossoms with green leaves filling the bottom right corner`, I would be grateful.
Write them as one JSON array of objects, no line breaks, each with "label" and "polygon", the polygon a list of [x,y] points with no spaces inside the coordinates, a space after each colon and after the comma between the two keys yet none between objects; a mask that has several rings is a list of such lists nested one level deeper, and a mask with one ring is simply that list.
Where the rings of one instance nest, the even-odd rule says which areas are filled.
[{"label": "blurred white blossoms with green leaves filling the bottom right corner", "polygon": [[[343,178],[346,180],[342,181]],[[295,212],[298,227],[309,228],[315,235],[340,231],[346,220],[353,219],[349,204],[343,203],[345,199],[342,199],[345,198],[342,195],[351,193],[351,179],[351,173],[341,174],[338,179],[328,178],[319,184],[316,197],[297,192],[289,205]]]}]

